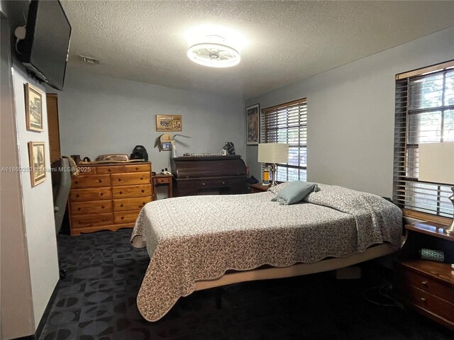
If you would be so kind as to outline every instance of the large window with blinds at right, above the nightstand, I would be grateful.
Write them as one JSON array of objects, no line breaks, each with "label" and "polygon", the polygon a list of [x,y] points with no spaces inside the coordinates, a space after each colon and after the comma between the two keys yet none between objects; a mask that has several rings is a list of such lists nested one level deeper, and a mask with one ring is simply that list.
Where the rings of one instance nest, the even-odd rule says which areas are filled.
[{"label": "large window with blinds at right, above the nightstand", "polygon": [[450,186],[418,180],[419,145],[436,142],[454,142],[454,61],[397,75],[393,196],[406,215],[453,215]]}]

